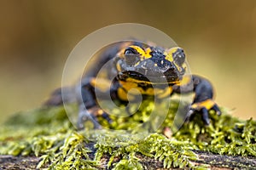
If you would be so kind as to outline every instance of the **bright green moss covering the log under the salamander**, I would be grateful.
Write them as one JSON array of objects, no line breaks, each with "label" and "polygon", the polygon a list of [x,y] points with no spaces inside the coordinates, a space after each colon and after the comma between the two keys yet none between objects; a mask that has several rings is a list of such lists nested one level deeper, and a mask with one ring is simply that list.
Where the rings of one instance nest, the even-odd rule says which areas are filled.
[{"label": "bright green moss covering the log under the salamander", "polygon": [[[222,116],[210,112],[210,126],[204,126],[197,114],[176,132],[173,120],[177,106],[177,101],[172,101],[157,133],[153,132],[157,119],[142,123],[150,120],[150,113],[155,109],[150,101],[144,101],[133,116],[111,116],[112,124],[99,118],[105,127],[102,130],[88,126],[78,132],[62,106],[19,113],[0,127],[0,154],[41,156],[38,167],[49,164],[49,169],[143,169],[142,156],[161,161],[166,168],[205,168],[195,167],[192,161],[197,156],[192,150],[256,156],[256,122],[252,119],[242,121],[222,109]],[[160,107],[166,108],[166,104]],[[75,106],[70,108],[77,112]],[[162,114],[161,110],[157,111],[158,115]],[[175,132],[172,139],[161,134],[164,127]],[[102,167],[102,161],[107,161],[107,167]]]}]

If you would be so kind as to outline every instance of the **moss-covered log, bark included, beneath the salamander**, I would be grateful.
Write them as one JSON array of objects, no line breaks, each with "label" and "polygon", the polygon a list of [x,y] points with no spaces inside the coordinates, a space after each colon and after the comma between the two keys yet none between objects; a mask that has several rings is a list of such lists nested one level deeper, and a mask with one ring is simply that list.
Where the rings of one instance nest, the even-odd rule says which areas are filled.
[{"label": "moss-covered log, bark included, beneath the salamander", "polygon": [[168,139],[162,132],[172,127],[176,109],[154,133],[127,130],[149,115],[143,111],[114,120],[113,131],[77,131],[63,107],[19,113],[0,126],[0,169],[256,169],[253,119],[239,120],[223,109],[222,116],[211,112],[206,127],[196,115]]}]

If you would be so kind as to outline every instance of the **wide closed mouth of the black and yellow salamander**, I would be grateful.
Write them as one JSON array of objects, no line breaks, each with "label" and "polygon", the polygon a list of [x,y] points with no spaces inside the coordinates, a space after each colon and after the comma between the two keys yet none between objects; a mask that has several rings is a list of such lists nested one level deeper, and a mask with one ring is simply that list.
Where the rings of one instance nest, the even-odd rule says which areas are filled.
[{"label": "wide closed mouth of the black and yellow salamander", "polygon": [[180,75],[177,74],[160,74],[143,75],[137,71],[119,72],[119,80],[126,82],[148,82],[151,84],[175,83],[180,80]]}]

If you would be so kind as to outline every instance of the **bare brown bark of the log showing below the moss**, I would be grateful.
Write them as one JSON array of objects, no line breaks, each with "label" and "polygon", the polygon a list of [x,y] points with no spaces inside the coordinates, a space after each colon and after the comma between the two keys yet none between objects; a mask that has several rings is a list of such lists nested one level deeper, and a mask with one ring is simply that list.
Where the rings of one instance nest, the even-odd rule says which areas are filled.
[{"label": "bare brown bark of the log showing below the moss", "polygon": [[[92,147],[93,144],[90,144]],[[90,148],[95,150],[94,148]],[[207,165],[211,169],[256,169],[255,157],[244,156],[221,156],[210,152],[193,150],[198,156],[197,160],[192,160],[197,165]],[[95,153],[91,153],[93,156]],[[145,169],[163,169],[163,162],[150,157],[138,155],[140,162]],[[101,167],[107,169],[109,156],[102,156]],[[115,161],[118,161],[117,158]],[[40,158],[36,156],[0,156],[0,169],[36,169]]]}]

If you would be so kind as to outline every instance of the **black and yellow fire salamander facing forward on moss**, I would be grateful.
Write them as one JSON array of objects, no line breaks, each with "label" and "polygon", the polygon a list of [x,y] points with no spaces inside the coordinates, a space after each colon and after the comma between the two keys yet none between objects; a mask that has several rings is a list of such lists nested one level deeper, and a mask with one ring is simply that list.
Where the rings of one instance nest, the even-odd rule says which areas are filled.
[{"label": "black and yellow fire salamander facing forward on moss", "polygon": [[[96,123],[97,116],[112,122],[108,113],[98,105],[96,92],[103,97],[110,92],[111,99],[121,104],[127,103],[128,99],[129,102],[136,101],[137,95],[143,95],[143,99],[153,95],[158,99],[166,99],[172,94],[194,93],[195,97],[189,106],[186,120],[189,120],[195,112],[201,113],[202,121],[209,125],[210,110],[214,110],[218,115],[221,114],[218,105],[212,99],[211,83],[200,76],[185,75],[186,63],[183,48],[161,48],[137,41],[117,42],[105,48],[102,54],[97,56],[95,63],[96,65],[85,72],[79,86],[82,94],[79,99],[79,128],[84,128],[84,122],[88,118],[94,122],[96,128],[100,127]],[[104,67],[104,65],[107,66]],[[97,74],[101,69],[104,76],[96,82]],[[107,85],[110,89],[106,88]],[[131,88],[136,88],[137,91],[129,93],[128,96]],[[67,95],[62,94],[61,97],[60,89],[55,91],[47,101],[47,105],[61,104],[62,99],[65,99],[63,96]]]}]

